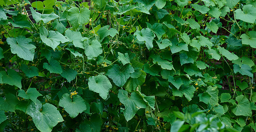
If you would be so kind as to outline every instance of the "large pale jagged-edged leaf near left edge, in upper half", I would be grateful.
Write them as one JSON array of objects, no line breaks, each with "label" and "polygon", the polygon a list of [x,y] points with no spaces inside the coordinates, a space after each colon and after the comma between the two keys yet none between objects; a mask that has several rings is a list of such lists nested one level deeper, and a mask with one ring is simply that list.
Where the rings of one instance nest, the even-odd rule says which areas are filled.
[{"label": "large pale jagged-edged leaf near left edge, in upper half", "polygon": [[10,45],[13,54],[17,54],[22,59],[33,61],[36,47],[29,44],[32,42],[30,38],[25,36],[8,37],[6,41]]}]

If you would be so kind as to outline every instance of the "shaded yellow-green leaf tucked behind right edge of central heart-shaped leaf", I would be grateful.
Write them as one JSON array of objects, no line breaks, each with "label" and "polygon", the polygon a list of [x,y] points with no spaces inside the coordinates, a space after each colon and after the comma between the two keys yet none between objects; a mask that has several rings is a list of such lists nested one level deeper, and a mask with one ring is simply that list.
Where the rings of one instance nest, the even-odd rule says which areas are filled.
[{"label": "shaded yellow-green leaf tucked behind right edge of central heart-shaped leaf", "polygon": [[146,75],[147,74],[143,70],[141,70],[140,77],[129,78],[125,84],[125,90],[128,92],[133,92],[134,90],[136,90],[138,86],[142,85],[145,82]]}]

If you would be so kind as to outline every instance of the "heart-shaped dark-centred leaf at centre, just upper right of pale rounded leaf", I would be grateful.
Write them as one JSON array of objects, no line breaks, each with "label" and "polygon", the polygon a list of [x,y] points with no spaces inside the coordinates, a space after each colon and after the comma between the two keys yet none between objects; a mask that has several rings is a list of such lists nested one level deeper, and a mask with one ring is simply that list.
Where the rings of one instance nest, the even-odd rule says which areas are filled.
[{"label": "heart-shaped dark-centred leaf at centre, just upper right of pale rounded leaf", "polygon": [[106,75],[109,76],[118,87],[122,87],[133,72],[134,69],[130,64],[121,67],[115,64],[108,70]]}]

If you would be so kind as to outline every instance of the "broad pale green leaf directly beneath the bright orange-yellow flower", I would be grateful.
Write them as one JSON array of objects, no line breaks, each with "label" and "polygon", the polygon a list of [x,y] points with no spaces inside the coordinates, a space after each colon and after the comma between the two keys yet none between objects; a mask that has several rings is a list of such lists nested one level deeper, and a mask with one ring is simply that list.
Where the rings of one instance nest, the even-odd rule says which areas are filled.
[{"label": "broad pale green leaf directly beneath the bright orange-yellow flower", "polygon": [[62,95],[62,99],[59,100],[59,106],[62,106],[64,110],[70,115],[70,117],[77,117],[79,113],[82,113],[86,110],[85,100],[81,96],[72,96],[65,93]]}]

